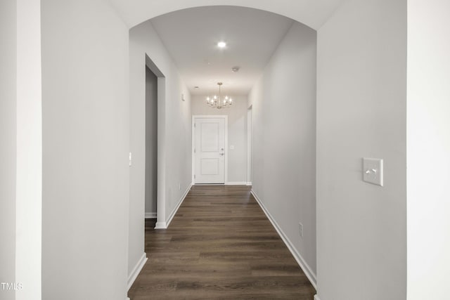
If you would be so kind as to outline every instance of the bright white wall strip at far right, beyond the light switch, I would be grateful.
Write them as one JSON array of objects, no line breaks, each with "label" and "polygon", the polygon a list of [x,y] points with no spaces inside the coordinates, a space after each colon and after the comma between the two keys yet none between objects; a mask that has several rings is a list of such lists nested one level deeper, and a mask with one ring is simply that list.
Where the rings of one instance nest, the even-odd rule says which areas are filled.
[{"label": "bright white wall strip at far right, beyond the light switch", "polygon": [[408,1],[408,299],[450,295],[450,2]]}]

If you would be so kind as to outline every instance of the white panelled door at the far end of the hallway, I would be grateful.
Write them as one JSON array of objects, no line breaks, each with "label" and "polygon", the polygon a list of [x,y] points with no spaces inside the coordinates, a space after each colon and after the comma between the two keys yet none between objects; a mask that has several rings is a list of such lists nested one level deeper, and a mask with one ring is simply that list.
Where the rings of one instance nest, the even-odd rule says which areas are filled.
[{"label": "white panelled door at the far end of the hallway", "polygon": [[225,183],[226,117],[194,117],[195,183]]}]

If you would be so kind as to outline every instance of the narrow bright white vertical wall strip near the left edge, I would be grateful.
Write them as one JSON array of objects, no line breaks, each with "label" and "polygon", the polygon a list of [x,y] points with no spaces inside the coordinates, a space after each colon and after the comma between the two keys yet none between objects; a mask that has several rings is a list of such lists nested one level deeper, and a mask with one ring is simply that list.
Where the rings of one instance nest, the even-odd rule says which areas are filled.
[{"label": "narrow bright white vertical wall strip near the left edge", "polygon": [[[15,299],[41,295],[42,115],[40,0],[17,2]],[[38,295],[38,296],[37,296]]]}]

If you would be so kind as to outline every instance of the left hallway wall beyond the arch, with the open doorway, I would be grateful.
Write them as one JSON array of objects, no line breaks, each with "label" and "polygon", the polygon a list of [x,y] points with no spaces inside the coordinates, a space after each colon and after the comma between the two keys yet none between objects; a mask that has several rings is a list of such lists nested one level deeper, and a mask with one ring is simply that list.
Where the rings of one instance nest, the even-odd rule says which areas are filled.
[{"label": "left hallway wall beyond the arch, with the open doorway", "polygon": [[[129,32],[130,171],[129,272],[144,253],[146,54],[158,67],[158,226],[191,185],[191,99],[150,21]],[[186,101],[181,101],[184,93]]]}]

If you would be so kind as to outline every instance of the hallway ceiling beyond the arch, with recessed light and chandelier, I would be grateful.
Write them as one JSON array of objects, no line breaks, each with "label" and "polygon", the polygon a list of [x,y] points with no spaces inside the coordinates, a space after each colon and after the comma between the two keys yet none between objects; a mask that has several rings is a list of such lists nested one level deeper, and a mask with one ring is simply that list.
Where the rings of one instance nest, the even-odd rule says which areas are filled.
[{"label": "hallway ceiling beyond the arch, with recessed light and chandelier", "polygon": [[[219,81],[225,93],[247,95],[294,21],[253,8],[205,6],[151,22],[193,95],[217,93]],[[234,66],[240,70],[232,72]]]}]

